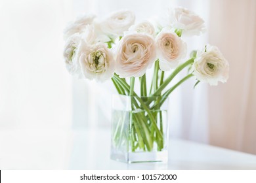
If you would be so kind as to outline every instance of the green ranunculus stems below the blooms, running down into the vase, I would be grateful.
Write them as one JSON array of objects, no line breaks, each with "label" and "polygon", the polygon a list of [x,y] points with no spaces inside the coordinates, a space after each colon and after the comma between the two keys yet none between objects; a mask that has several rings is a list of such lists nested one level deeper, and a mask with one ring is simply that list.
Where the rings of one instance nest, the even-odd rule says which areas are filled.
[{"label": "green ranunculus stems below the blooms, running down into the vase", "polygon": [[[185,67],[192,65],[194,58],[188,59],[186,62],[179,65],[166,79],[164,79],[164,71],[160,70],[159,60],[156,60],[154,67],[154,75],[150,90],[146,88],[146,74],[139,78],[140,81],[140,96],[134,91],[135,77],[130,78],[130,84],[127,84],[125,78],[120,78],[114,74],[112,81],[116,86],[117,92],[120,95],[131,96],[131,131],[132,134],[128,137],[131,143],[132,151],[135,152],[137,148],[142,150],[152,151],[154,142],[158,146],[158,150],[163,148],[163,124],[162,114],[160,110],[161,105],[165,99],[170,95],[175,88],[180,86],[185,80],[192,77],[192,74],[186,75],[177,84],[171,86],[169,90],[163,93],[163,90],[175,78],[175,76]],[[133,111],[140,109],[142,112],[134,113]],[[160,118],[158,120],[158,118]]]}]

